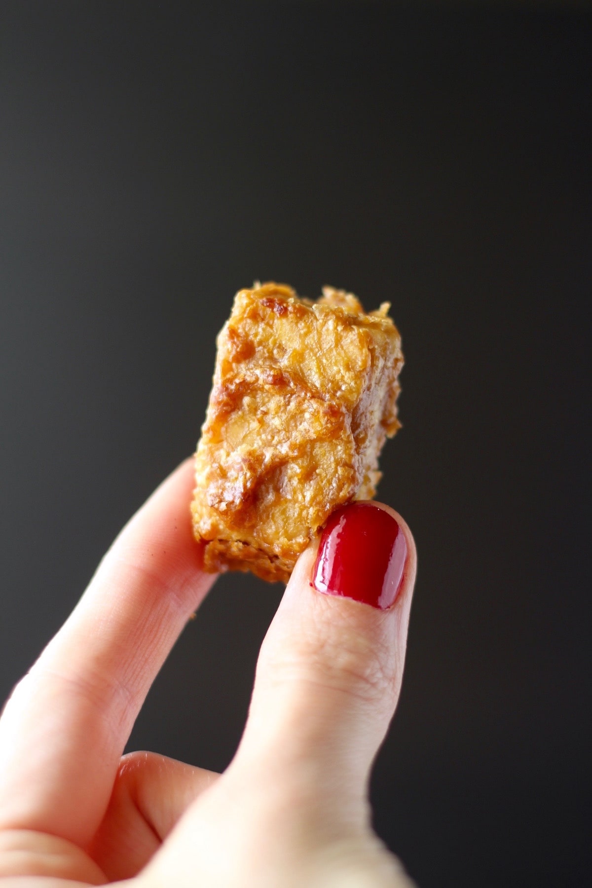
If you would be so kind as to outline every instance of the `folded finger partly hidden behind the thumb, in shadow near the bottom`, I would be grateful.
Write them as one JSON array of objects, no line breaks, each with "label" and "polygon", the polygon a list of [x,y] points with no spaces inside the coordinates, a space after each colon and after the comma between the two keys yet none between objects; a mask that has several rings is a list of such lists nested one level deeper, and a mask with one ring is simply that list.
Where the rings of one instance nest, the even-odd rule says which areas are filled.
[{"label": "folded finger partly hidden behind the thumb, in shadow near the bottom", "polygon": [[153,752],[122,757],[107,813],[89,848],[107,879],[136,876],[218,776]]}]

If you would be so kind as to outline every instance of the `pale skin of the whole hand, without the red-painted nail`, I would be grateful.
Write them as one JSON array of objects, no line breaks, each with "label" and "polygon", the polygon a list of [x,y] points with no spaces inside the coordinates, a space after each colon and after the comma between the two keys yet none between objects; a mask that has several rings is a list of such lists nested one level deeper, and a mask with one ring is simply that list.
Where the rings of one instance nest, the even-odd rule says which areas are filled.
[{"label": "pale skin of the whole hand, without the red-painted nail", "polygon": [[378,611],[320,594],[310,585],[315,545],[305,551],[225,773],[150,752],[122,757],[215,580],[191,533],[192,486],[187,460],[124,527],[4,708],[0,888],[408,888],[367,802],[399,699],[416,564],[413,537],[388,506],[407,537],[395,604]]}]

